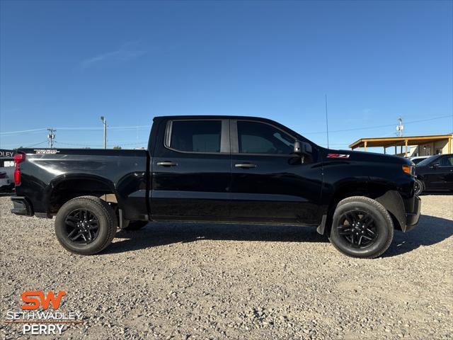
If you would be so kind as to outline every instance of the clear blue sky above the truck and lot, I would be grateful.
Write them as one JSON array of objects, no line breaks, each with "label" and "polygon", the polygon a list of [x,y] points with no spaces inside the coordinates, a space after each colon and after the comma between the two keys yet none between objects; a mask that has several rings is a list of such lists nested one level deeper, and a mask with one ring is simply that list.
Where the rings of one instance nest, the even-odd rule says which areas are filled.
[{"label": "clear blue sky above the truck and lot", "polygon": [[35,129],[50,127],[56,147],[102,147],[101,115],[108,147],[141,147],[154,116],[179,114],[263,116],[326,146],[325,94],[331,147],[395,135],[399,115],[406,135],[453,132],[452,1],[0,1],[0,12],[2,148],[44,147]]}]

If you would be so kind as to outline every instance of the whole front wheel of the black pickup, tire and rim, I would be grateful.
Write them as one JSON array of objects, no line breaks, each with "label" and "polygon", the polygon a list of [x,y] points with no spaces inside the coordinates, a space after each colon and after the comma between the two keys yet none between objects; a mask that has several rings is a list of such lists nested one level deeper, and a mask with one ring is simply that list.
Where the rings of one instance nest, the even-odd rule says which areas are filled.
[{"label": "whole front wheel of the black pickup, tire and rim", "polygon": [[376,200],[352,196],[338,203],[329,240],[343,254],[374,259],[384,254],[393,238],[391,216]]}]

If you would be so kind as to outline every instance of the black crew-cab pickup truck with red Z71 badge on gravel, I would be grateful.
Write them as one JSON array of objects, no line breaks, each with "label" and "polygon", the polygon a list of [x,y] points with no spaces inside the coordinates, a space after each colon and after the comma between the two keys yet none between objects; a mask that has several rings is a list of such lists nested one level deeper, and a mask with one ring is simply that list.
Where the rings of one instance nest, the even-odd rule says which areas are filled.
[{"label": "black crew-cab pickup truck with red Z71 badge on gravel", "polygon": [[264,118],[157,117],[148,149],[20,149],[13,213],[55,218],[57,239],[96,254],[149,221],[317,227],[374,258],[420,216],[403,158],[325,149]]}]

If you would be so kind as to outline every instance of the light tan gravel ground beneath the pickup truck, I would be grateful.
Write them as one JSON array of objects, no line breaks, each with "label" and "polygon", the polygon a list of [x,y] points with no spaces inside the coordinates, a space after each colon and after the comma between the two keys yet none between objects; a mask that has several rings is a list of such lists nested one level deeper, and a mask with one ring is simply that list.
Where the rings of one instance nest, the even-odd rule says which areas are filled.
[{"label": "light tan gravel ground beneath the pickup truck", "polygon": [[24,290],[65,290],[84,323],[64,339],[453,339],[453,196],[422,200],[418,227],[360,260],[311,228],[161,223],[76,256],[3,197],[1,317]]}]

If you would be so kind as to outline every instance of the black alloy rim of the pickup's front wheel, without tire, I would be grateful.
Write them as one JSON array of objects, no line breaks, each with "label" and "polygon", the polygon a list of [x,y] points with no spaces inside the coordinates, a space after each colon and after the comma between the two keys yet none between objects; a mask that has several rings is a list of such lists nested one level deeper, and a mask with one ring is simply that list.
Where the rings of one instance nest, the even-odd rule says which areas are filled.
[{"label": "black alloy rim of the pickup's front wheel, without tire", "polygon": [[371,246],[379,236],[372,215],[365,211],[344,212],[339,222],[338,234],[354,248]]}]

